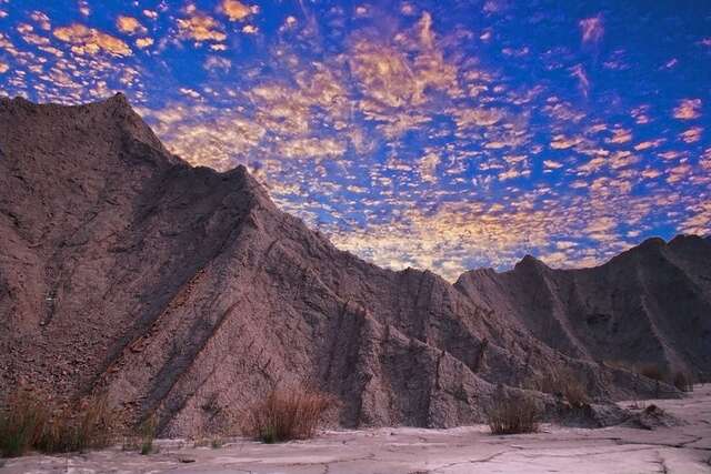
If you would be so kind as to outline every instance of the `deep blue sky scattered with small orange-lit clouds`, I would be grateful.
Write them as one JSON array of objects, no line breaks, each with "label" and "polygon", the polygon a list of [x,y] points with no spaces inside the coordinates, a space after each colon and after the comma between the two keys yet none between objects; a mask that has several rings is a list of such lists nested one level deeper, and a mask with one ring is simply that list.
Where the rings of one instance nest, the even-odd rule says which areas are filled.
[{"label": "deep blue sky scattered with small orange-lit clouds", "polygon": [[0,94],[117,91],[392,269],[711,233],[711,1],[0,0]]}]

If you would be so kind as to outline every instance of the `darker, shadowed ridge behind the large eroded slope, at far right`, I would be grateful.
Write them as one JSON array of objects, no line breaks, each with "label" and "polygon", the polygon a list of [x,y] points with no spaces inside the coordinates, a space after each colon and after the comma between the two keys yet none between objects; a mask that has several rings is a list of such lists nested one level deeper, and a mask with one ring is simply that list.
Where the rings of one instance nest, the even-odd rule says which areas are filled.
[{"label": "darker, shadowed ridge behind the large eroded slope, at far right", "polygon": [[711,376],[711,241],[649,239],[593,269],[524,258],[477,270],[455,288],[572,357]]}]

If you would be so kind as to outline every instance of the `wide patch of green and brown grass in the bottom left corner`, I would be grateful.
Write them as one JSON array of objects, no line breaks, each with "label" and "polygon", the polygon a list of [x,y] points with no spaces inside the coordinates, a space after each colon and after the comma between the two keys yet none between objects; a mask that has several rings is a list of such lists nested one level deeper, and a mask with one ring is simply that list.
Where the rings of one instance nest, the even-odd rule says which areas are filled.
[{"label": "wide patch of green and brown grass in the bottom left corner", "polygon": [[116,415],[106,397],[89,397],[57,407],[48,397],[19,390],[0,415],[0,448],[6,457],[28,451],[67,453],[108,446]]}]

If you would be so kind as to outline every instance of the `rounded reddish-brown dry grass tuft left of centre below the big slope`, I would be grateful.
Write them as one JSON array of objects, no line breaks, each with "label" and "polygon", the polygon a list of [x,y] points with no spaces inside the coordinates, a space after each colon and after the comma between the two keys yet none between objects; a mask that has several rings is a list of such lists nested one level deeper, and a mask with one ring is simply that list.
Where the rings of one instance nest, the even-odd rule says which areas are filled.
[{"label": "rounded reddish-brown dry grass tuft left of centre below the big slope", "polygon": [[274,389],[248,414],[246,432],[264,443],[313,437],[332,396],[302,387]]}]

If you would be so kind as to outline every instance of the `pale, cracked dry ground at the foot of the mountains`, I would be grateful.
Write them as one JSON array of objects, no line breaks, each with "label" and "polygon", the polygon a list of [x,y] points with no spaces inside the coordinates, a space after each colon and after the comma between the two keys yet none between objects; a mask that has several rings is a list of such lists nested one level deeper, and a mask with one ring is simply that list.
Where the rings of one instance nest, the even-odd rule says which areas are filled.
[{"label": "pale, cracked dry ground at the foot of the mountains", "polygon": [[[687,424],[653,431],[543,425],[530,435],[492,436],[485,426],[327,432],[316,440],[220,448],[160,442],[158,454],[120,448],[9,460],[0,473],[711,473],[711,385],[683,400],[650,401]],[[629,406],[629,403],[623,403]]]}]

